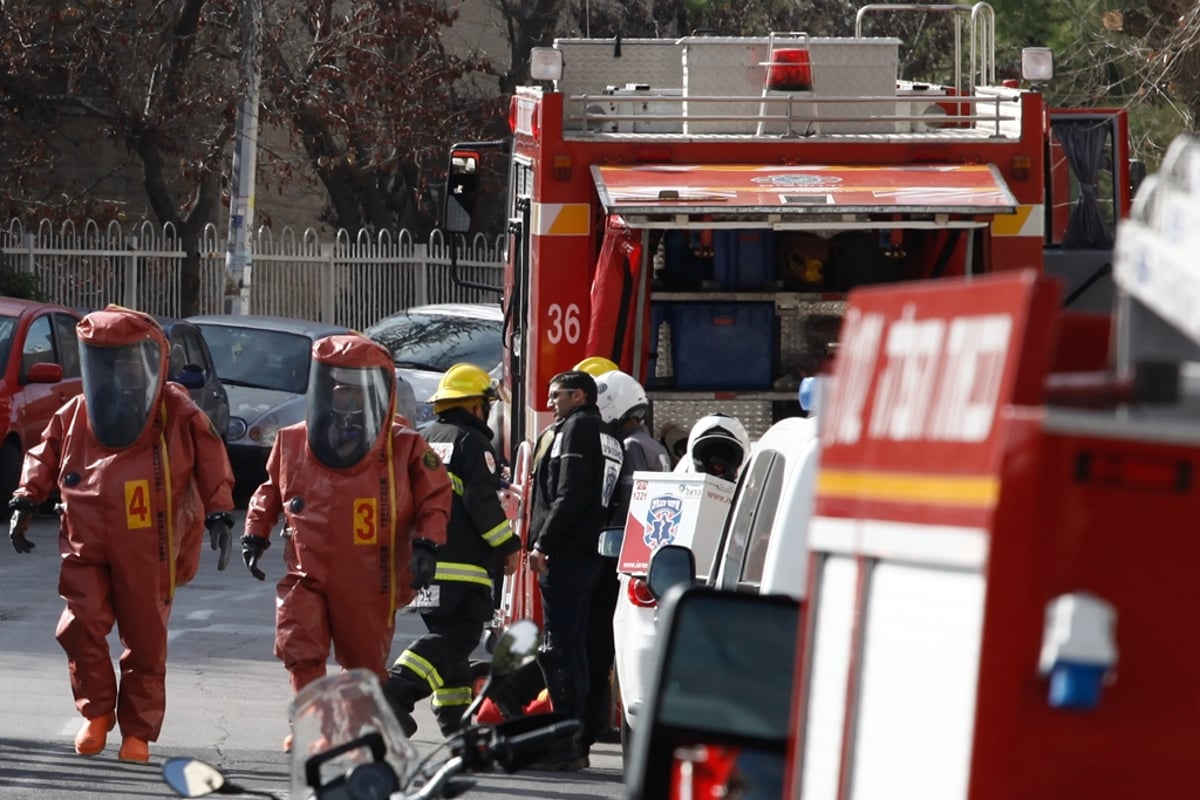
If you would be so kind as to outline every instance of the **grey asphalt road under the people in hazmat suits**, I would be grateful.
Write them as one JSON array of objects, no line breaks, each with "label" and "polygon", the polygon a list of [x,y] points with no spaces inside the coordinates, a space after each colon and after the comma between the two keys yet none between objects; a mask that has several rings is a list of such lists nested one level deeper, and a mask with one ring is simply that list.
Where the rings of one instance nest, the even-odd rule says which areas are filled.
[{"label": "grey asphalt road under the people in hazmat suits", "polygon": [[[235,542],[240,535],[241,515]],[[264,583],[246,572],[236,554],[227,571],[217,572],[216,554],[204,551],[199,575],[179,590],[172,612],[162,735],[151,745],[150,764],[136,765],[116,759],[119,732],[100,756],[74,753],[80,717],[66,658],[54,639],[62,609],[56,536],[56,519],[40,517],[30,533],[37,543],[34,553],[18,555],[0,540],[0,798],[175,796],[160,775],[162,762],[174,756],[200,758],[233,782],[287,798],[288,757],[281,744],[292,698],[287,673],[271,652],[281,549],[268,551]],[[422,632],[418,618],[401,615],[394,657]],[[115,661],[121,651],[115,633],[109,642]],[[427,704],[418,709],[416,720],[414,742],[427,753],[442,741]],[[466,798],[624,794],[617,745],[598,745],[592,768],[578,774],[490,772],[478,781]]]}]

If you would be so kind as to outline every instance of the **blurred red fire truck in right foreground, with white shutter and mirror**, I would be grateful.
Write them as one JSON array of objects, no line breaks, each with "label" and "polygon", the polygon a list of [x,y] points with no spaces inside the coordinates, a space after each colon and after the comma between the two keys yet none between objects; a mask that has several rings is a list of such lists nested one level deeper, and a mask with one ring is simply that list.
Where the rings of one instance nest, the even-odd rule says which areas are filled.
[{"label": "blurred red fire truck in right foreground, with white shutter and mirror", "polygon": [[1194,794],[1198,164],[1120,225],[1111,355],[1034,271],[851,294],[806,600],[665,603],[631,798]]}]

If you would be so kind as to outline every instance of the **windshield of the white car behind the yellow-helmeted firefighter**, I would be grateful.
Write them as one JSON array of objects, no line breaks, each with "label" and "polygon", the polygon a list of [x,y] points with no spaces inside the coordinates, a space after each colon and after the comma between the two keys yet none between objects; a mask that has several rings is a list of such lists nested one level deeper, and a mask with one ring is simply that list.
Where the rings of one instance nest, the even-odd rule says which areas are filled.
[{"label": "windshield of the white car behind the yellow-helmeted firefighter", "polygon": [[366,335],[379,342],[400,366],[445,372],[466,361],[484,369],[500,362],[500,321],[478,317],[397,314]]}]

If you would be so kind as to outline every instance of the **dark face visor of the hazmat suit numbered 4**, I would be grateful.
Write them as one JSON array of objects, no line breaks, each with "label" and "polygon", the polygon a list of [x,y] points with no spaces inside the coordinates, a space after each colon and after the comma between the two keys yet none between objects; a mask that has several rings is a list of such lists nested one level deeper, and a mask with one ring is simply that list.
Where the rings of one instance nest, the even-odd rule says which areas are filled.
[{"label": "dark face visor of the hazmat suit numbered 4", "polygon": [[96,439],[114,450],[128,447],[145,429],[158,397],[158,342],[143,339],[115,347],[82,343],[79,368],[88,422]]}]

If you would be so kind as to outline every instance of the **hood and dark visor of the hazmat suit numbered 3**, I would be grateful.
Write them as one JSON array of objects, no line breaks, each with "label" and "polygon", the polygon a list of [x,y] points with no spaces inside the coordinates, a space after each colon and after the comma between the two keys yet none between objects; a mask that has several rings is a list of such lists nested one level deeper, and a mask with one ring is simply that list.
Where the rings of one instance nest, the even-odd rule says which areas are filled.
[{"label": "hood and dark visor of the hazmat suit numbered 3", "polygon": [[312,345],[306,397],[308,450],[326,467],[349,469],[374,455],[396,415],[391,355],[358,333]]}]

